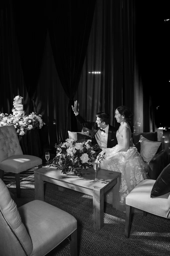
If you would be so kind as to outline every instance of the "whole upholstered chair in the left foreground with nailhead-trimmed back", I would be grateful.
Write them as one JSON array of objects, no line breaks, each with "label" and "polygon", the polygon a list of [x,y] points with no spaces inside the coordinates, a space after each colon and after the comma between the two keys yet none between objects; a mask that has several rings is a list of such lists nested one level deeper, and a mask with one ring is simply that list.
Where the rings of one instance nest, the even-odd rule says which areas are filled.
[{"label": "whole upholstered chair in the left foreground with nailhead-trimmed back", "polygon": [[43,256],[64,239],[70,240],[71,256],[77,255],[77,221],[44,201],[34,200],[19,208],[0,179],[0,254]]}]

